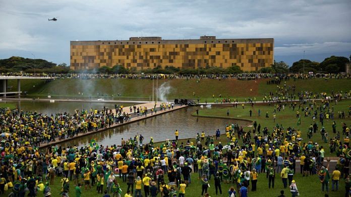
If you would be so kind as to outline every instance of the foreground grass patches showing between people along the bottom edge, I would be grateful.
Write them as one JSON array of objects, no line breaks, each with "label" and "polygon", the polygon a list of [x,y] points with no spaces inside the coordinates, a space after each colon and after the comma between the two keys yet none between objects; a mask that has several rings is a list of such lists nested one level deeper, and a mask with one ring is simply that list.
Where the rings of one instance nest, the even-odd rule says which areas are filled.
[{"label": "foreground grass patches showing between people along the bottom edge", "polygon": [[[198,179],[198,173],[192,173],[191,179],[192,183],[187,186],[186,188],[186,196],[201,196],[201,184],[200,180]],[[125,192],[127,191],[127,183],[122,182],[122,179],[117,178],[119,180],[119,183],[122,187],[122,195],[124,196]],[[168,180],[167,176],[165,176],[166,181]],[[297,173],[294,175],[294,179],[297,183],[298,190],[300,191],[300,196],[305,196],[305,197],[314,197],[314,196],[324,196],[324,193],[321,190],[321,183],[319,182],[318,175],[313,175],[313,176],[308,176],[308,177],[302,177],[300,173]],[[61,183],[60,183],[61,177],[56,177],[54,185],[50,185],[51,187],[51,193],[52,196],[60,196],[60,189],[61,189]],[[215,196],[215,187],[214,187],[214,182],[213,182],[213,177],[209,181],[210,188],[208,188],[208,193],[210,196]],[[222,187],[222,193],[223,196],[228,196],[228,189],[230,188],[231,185],[233,184],[224,184],[221,183]],[[251,185],[251,182],[250,182]],[[135,185],[134,185],[135,186]],[[235,184],[234,184],[235,186]],[[106,184],[104,185],[104,189],[106,188]],[[236,188],[236,186],[235,186]],[[278,196],[280,195],[280,190],[283,189],[283,183],[281,181],[281,178],[278,174],[276,174],[275,177],[275,184],[274,184],[274,189],[268,189],[268,179],[266,178],[265,173],[261,173],[258,176],[258,182],[257,182],[257,191],[250,191],[249,196],[257,196],[257,197],[264,197],[264,196]],[[5,195],[7,196],[12,189],[9,189],[8,191],[5,192]],[[290,190],[288,188],[283,189],[285,192],[285,196],[290,196]],[[344,195],[344,181],[341,180],[339,183],[339,190],[338,191],[331,191],[331,180],[329,181],[329,196],[343,196]],[[84,186],[82,186],[82,196],[84,197],[92,197],[92,196],[103,196],[103,194],[97,194],[96,192],[96,186],[92,187],[90,190],[85,190]],[[28,193],[28,192],[27,192]],[[73,181],[70,181],[70,196],[75,196],[75,185]],[[142,195],[144,196],[144,190],[142,189]],[[218,193],[219,195],[219,193]],[[38,193],[38,196],[43,196],[43,194],[40,192]],[[161,196],[158,194],[157,196]],[[237,194],[236,196],[239,196]]]}]

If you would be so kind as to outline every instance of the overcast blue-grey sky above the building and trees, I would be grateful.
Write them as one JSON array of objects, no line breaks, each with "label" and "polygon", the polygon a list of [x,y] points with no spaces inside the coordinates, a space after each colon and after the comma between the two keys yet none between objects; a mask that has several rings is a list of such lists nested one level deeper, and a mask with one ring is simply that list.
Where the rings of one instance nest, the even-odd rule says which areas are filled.
[{"label": "overcast blue-grey sky above the building and trees", "polygon": [[[58,17],[56,22],[48,18]],[[0,58],[70,64],[71,40],[274,38],[275,60],[351,54],[351,1],[0,0]]]}]

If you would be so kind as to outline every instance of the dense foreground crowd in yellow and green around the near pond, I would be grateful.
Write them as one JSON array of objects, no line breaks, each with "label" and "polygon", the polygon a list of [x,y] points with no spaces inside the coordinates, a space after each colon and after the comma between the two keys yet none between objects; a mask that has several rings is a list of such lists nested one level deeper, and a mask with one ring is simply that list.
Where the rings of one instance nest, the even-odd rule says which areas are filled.
[{"label": "dense foreground crowd in yellow and green around the near pond", "polygon": [[[279,107],[275,110],[278,113]],[[51,137],[44,137],[44,142],[54,137],[60,138],[60,131],[70,128],[71,124],[94,123],[97,114],[105,117],[110,112],[91,110],[76,112],[73,116],[45,117],[36,113],[1,111],[2,130],[12,135],[2,137],[0,191],[4,193],[6,185],[12,187],[12,196],[36,196],[38,192],[43,192],[45,196],[68,196],[69,193],[81,196],[96,188],[96,192],[105,197],[121,196],[122,193],[126,197],[157,196],[158,193],[167,197],[184,196],[191,184],[201,184],[201,195],[208,196],[209,180],[213,178],[215,193],[223,194],[226,192],[224,189],[228,189],[227,194],[232,197],[248,196],[248,192],[263,189],[257,188],[257,182],[265,178],[267,187],[274,188],[277,174],[281,177],[282,189],[289,188],[292,196],[297,196],[299,184],[294,176],[299,173],[297,168],[300,168],[303,176],[315,176],[316,181],[321,182],[323,191],[329,191],[330,179],[332,190],[338,190],[339,180],[343,179],[345,196],[348,195],[351,157],[346,125],[343,139],[333,139],[340,150],[336,169],[331,175],[323,146],[312,140],[302,143],[299,129],[276,124],[269,130],[261,128],[257,122],[253,124],[253,131],[244,131],[238,124],[225,125],[226,143],[223,144],[219,129],[214,136],[206,136],[202,132],[186,142],[178,141],[182,131],[177,130],[174,140],[158,145],[154,145],[152,138],[149,143],[144,143],[141,136],[135,136],[134,139],[122,139],[119,145],[99,146],[92,141],[90,146],[81,148],[51,146],[44,152],[39,151],[38,146],[45,132],[56,130],[57,135],[46,134]],[[108,125],[108,121],[103,119],[102,122],[102,125]],[[84,128],[82,132],[95,129],[94,124],[88,124],[86,131]],[[319,129],[318,126],[311,126],[308,130],[315,135]],[[72,132],[77,131],[73,129]],[[62,132],[61,137],[63,134],[69,136],[72,132]],[[39,144],[37,138],[40,139]],[[297,166],[298,159],[300,166]],[[324,166],[325,163],[327,165]],[[199,180],[192,179],[193,173]],[[265,175],[258,176],[260,173]],[[52,194],[51,187],[59,180],[61,193]],[[124,191],[122,184],[127,185]],[[84,189],[81,188],[83,185]],[[74,189],[70,188],[72,186]]]}]

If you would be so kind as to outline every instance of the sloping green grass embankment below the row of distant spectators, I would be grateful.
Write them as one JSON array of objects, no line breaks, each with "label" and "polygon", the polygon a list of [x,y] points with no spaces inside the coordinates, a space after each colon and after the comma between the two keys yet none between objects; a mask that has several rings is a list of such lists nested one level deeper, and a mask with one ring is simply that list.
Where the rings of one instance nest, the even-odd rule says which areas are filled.
[{"label": "sloping green grass embankment below the row of distant spectators", "polygon": [[[159,88],[163,84],[169,87],[165,97],[169,100],[175,98],[200,99],[201,102],[214,102],[212,95],[218,97],[230,97],[239,99],[256,97],[257,101],[262,100],[264,93],[275,92],[276,85],[267,85],[267,79],[257,81],[242,81],[236,79],[161,79],[158,80]],[[155,87],[156,87],[156,81]],[[9,80],[13,90],[17,87],[17,80]],[[283,82],[281,83],[281,86]],[[286,85],[296,85],[296,92],[309,90],[313,92],[330,93],[338,90],[348,91],[351,89],[349,79],[306,79],[294,81],[290,79]],[[21,90],[27,91],[29,96],[112,96],[114,99],[138,98],[148,100],[152,96],[152,80],[150,79],[55,79],[49,82],[45,80],[22,80]],[[83,93],[83,94],[82,94]],[[116,96],[118,93],[121,96]],[[195,93],[195,95],[193,94]],[[156,90],[154,92],[156,97]]]}]

